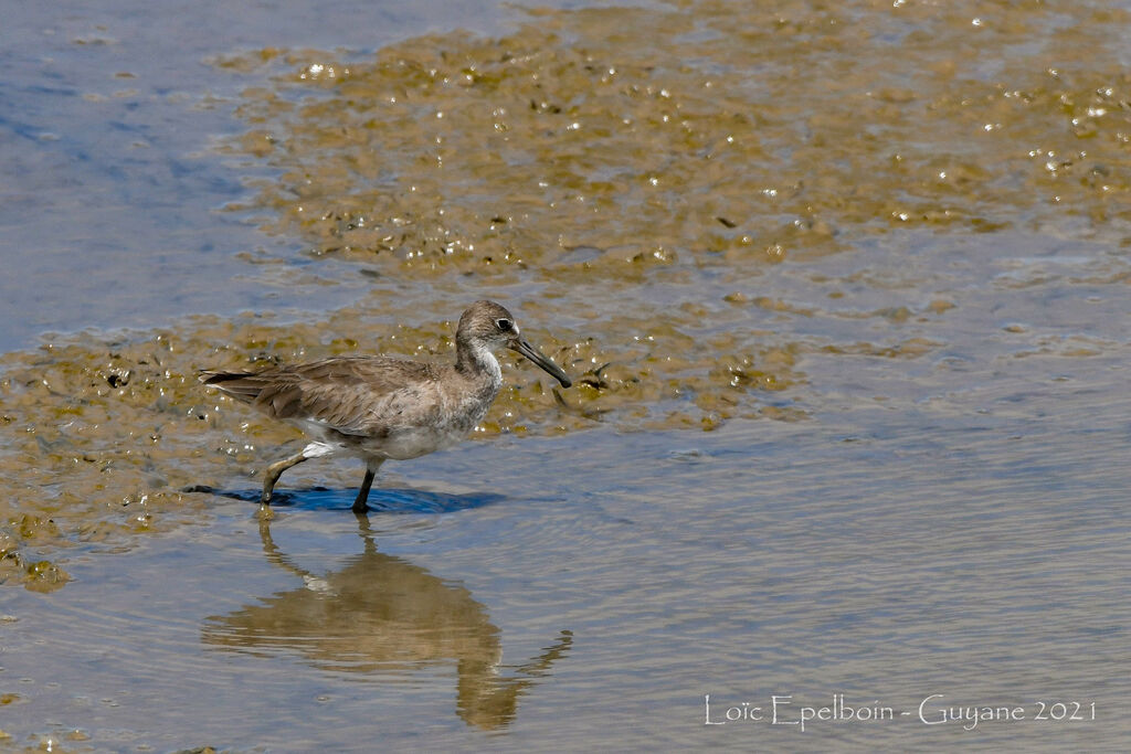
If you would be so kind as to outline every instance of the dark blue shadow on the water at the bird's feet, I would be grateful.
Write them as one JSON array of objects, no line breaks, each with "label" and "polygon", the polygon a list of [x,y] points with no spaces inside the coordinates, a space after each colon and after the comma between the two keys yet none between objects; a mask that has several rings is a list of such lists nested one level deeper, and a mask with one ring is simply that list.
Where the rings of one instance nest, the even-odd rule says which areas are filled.
[{"label": "dark blue shadow on the water at the bird's feet", "polygon": [[[184,492],[204,492],[221,497],[231,497],[259,504],[258,489],[217,489],[208,486],[189,487]],[[308,487],[305,489],[277,491],[271,495],[271,508],[325,511],[351,510],[357,491],[354,488]],[[426,489],[379,488],[374,487],[369,496],[369,512],[437,514],[469,511],[485,505],[493,505],[507,497],[494,493],[469,493],[454,495]]]}]

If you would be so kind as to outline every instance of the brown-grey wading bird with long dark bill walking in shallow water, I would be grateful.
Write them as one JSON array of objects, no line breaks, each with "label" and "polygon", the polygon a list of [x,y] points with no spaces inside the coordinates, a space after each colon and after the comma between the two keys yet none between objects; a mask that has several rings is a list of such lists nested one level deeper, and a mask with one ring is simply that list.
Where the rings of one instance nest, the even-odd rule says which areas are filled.
[{"label": "brown-grey wading bird with long dark bill walking in shallow water", "polygon": [[267,467],[261,502],[283,471],[311,458],[348,454],[365,461],[353,510],[369,510],[369,488],[388,459],[406,460],[450,448],[486,415],[502,370],[495,348],[517,350],[553,375],[569,376],[520,335],[515,318],[493,301],[477,301],[459,318],[456,363],[392,356],[336,356],[261,372],[206,370],[200,381],[299,426],[311,439],[302,452]]}]

